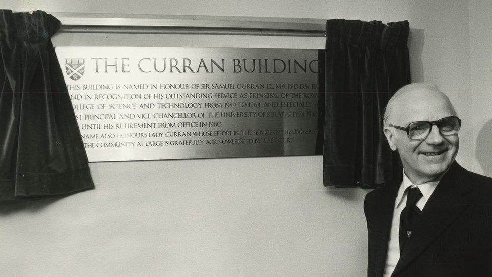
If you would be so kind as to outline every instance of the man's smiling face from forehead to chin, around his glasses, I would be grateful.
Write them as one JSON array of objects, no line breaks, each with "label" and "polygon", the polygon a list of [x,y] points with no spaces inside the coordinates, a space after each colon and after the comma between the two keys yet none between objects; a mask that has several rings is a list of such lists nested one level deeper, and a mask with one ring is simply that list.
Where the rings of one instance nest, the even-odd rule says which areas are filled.
[{"label": "man's smiling face from forehead to chin, around his glasses", "polygon": [[[455,116],[451,103],[444,95],[433,91],[419,91],[402,95],[393,109],[390,123],[406,127],[414,121],[436,121]],[[405,174],[418,184],[436,181],[444,174],[458,153],[458,134],[441,135],[436,125],[427,138],[413,140],[405,131],[385,127],[385,135],[392,150],[398,150]]]}]

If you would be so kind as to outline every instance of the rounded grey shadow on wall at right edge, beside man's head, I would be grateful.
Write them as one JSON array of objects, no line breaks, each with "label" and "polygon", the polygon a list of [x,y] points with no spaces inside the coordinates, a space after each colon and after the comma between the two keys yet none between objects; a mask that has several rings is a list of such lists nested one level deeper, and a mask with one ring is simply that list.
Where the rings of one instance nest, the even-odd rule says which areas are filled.
[{"label": "rounded grey shadow on wall at right edge, beside man's head", "polygon": [[475,156],[483,174],[492,177],[492,119],[478,132]]}]

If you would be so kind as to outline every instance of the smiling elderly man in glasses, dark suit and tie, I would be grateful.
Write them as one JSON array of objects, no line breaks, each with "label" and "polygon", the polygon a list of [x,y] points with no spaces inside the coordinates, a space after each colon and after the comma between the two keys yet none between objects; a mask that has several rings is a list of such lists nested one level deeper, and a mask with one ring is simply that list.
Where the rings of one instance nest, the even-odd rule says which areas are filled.
[{"label": "smiling elderly man in glasses, dark suit and tie", "polygon": [[369,276],[492,276],[492,179],[455,161],[460,127],[434,86],[388,102],[384,134],[403,173],[365,198]]}]

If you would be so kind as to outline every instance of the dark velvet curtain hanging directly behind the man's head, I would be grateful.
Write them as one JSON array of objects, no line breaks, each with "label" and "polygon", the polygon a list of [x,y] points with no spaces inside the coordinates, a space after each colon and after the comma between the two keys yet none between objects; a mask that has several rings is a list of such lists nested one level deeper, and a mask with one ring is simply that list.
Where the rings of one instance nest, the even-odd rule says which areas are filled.
[{"label": "dark velvet curtain hanging directly behind the man's head", "polygon": [[327,21],[325,186],[375,188],[401,170],[383,114],[393,93],[410,83],[408,34],[408,21]]}]

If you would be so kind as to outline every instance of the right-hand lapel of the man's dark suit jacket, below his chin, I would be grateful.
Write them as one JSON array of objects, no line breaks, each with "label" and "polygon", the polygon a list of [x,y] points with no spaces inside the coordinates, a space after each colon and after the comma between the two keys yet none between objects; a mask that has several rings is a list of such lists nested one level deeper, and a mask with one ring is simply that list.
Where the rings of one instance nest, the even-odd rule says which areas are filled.
[{"label": "right-hand lapel of the man's dark suit jacket, below his chin", "polygon": [[463,194],[472,189],[467,171],[456,161],[439,182],[415,223],[407,248],[401,253],[393,274],[409,265],[430,243],[455,221],[468,206]]}]

